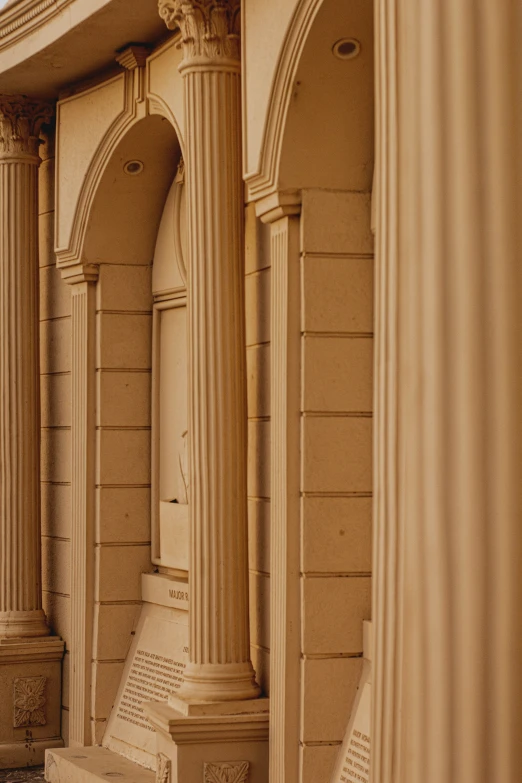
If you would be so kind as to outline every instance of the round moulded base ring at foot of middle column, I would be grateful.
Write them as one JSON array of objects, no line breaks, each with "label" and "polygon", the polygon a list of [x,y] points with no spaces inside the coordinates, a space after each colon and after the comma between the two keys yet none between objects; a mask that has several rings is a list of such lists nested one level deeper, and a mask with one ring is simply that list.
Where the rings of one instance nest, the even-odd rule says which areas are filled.
[{"label": "round moulded base ring at foot of middle column", "polygon": [[226,702],[256,699],[261,688],[254,667],[247,663],[188,663],[177,695],[187,702]]}]

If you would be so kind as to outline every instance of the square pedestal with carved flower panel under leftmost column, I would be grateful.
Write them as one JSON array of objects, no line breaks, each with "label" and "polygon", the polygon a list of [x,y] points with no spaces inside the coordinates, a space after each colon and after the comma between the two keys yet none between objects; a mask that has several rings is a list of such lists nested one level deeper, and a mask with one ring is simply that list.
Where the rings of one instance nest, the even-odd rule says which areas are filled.
[{"label": "square pedestal with carved flower panel under leftmost column", "polygon": [[56,636],[0,639],[0,769],[43,763],[63,746],[64,643]]}]

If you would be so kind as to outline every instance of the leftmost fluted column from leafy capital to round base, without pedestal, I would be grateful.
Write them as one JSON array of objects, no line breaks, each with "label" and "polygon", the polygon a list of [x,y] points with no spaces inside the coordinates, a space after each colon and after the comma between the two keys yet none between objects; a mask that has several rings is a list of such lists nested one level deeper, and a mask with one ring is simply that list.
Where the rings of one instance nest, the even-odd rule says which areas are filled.
[{"label": "leftmost fluted column from leafy capital to round base, without pedestal", "polygon": [[0,639],[45,636],[40,567],[38,155],[51,107],[0,95]]}]

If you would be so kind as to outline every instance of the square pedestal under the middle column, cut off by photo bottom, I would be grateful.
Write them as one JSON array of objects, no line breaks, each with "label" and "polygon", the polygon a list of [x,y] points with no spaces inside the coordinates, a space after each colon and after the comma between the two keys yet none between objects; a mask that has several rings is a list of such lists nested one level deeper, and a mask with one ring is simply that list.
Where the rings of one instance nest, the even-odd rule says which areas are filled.
[{"label": "square pedestal under the middle column, cut off by photo bottom", "polygon": [[157,779],[169,783],[268,783],[269,700],[143,705],[156,730]]}]

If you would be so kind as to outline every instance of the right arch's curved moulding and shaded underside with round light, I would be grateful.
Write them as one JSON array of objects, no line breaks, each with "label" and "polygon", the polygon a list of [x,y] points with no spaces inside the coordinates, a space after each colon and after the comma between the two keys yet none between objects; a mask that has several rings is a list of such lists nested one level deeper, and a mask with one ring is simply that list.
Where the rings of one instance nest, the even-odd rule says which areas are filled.
[{"label": "right arch's curved moulding and shaded underside with round light", "polygon": [[[345,37],[361,44],[353,60],[332,52]],[[274,77],[259,170],[247,177],[250,197],[303,186],[369,190],[373,105],[372,3],[300,0]]]}]

